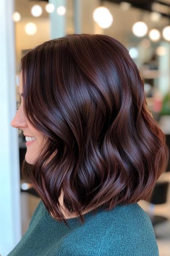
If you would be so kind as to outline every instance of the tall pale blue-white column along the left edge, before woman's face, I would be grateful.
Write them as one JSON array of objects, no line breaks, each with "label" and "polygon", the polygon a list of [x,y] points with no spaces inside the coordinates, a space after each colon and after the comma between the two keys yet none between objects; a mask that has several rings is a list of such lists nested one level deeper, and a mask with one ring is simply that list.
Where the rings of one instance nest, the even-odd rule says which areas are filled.
[{"label": "tall pale blue-white column along the left edge, before woman's face", "polygon": [[0,254],[21,239],[18,130],[10,125],[16,111],[13,0],[0,1]]}]

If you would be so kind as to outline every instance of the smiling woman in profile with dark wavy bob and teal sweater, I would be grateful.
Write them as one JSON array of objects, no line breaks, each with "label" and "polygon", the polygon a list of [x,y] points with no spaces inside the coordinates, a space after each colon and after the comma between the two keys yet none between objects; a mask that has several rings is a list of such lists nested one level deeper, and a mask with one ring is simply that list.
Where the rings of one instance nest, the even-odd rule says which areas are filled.
[{"label": "smiling woman in profile with dark wavy bob and teal sweater", "polygon": [[166,168],[165,135],[127,49],[107,35],[46,41],[21,59],[23,176],[41,201],[9,256],[159,255],[137,204]]}]

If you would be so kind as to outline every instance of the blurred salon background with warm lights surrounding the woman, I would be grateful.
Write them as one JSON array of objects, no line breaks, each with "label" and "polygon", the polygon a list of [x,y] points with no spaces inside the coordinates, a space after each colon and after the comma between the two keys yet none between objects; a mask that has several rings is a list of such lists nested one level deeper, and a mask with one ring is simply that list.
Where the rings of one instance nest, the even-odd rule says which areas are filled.
[{"label": "blurred salon background with warm lights surrounding the woman", "polygon": [[[66,34],[104,34],[119,40],[144,79],[153,118],[170,150],[170,0],[0,1],[0,255],[28,229],[40,198],[21,174],[26,140],[10,126],[20,105],[20,59],[29,49]],[[170,256],[170,159],[150,201],[160,256]],[[36,241],[35,241],[36,242]]]}]

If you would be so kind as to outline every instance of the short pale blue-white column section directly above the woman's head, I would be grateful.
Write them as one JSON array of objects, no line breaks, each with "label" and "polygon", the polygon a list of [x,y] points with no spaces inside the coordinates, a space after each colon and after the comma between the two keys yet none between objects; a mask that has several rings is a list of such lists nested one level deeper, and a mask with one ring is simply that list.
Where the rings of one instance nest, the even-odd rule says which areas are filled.
[{"label": "short pale blue-white column section directly above the woman's head", "polygon": [[[60,38],[65,36],[65,15],[58,15],[57,14],[57,8],[59,6],[65,6],[66,3],[65,0],[49,0],[49,3],[54,4],[55,10],[54,12],[49,14],[50,18],[50,38]],[[66,9],[67,12],[67,9]]]}]

